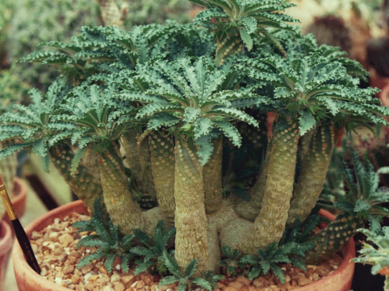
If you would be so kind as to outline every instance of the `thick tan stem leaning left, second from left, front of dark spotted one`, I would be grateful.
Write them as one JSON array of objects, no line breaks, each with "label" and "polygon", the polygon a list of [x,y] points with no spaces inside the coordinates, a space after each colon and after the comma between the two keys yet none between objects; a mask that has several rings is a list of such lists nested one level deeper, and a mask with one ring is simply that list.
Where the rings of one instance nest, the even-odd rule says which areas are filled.
[{"label": "thick tan stem leaning left, second from left, front of dark spotted one", "polygon": [[135,228],[143,229],[145,219],[131,198],[118,144],[113,142],[99,153],[98,161],[104,203],[112,222],[123,234],[130,234]]}]

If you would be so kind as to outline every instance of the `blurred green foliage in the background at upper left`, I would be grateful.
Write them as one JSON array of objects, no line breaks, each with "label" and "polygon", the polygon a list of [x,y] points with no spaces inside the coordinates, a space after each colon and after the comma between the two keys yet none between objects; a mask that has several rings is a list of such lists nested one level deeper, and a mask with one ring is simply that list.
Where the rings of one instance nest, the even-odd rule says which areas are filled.
[{"label": "blurred green foliage in the background at upper left", "polygon": [[[152,22],[163,23],[167,18],[185,23],[194,16],[194,5],[187,0],[117,0],[116,3],[118,7],[128,7],[123,22],[125,29]],[[2,86],[19,100],[26,98],[27,88],[45,90],[58,75],[51,66],[20,63],[13,68],[12,78],[5,77],[10,73],[4,73],[4,70],[34,51],[40,42],[60,39],[68,42],[81,26],[102,24],[98,1],[1,0],[1,81],[8,82]]]}]

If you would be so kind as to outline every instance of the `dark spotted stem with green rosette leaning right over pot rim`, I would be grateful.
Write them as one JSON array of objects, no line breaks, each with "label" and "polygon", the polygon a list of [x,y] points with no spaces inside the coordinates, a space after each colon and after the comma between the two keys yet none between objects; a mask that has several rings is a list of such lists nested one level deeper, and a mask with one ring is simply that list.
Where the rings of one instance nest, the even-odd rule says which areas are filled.
[{"label": "dark spotted stem with green rosette leaning right over pot rim", "polygon": [[379,173],[371,162],[363,163],[354,151],[351,156],[353,172],[346,163],[342,170],[346,196],[335,203],[343,213],[310,237],[309,241],[314,242],[315,247],[307,254],[308,263],[324,260],[340,250],[366,222],[375,227],[383,217],[389,216],[389,210],[381,206],[389,201],[389,191],[379,188]]}]

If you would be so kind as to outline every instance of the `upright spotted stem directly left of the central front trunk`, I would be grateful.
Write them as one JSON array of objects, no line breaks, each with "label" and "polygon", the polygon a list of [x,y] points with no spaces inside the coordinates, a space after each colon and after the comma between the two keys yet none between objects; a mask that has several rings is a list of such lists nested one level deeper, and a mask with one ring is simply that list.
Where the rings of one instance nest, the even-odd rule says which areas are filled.
[{"label": "upright spotted stem directly left of the central front trunk", "polygon": [[149,135],[156,199],[164,220],[174,222],[174,139],[158,132]]}]

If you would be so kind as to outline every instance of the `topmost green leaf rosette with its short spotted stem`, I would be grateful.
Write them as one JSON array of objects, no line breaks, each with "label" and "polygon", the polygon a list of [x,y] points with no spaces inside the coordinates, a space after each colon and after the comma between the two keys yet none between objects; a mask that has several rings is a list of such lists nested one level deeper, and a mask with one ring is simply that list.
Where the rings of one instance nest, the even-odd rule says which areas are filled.
[{"label": "topmost green leaf rosette with its short spotted stem", "polygon": [[[216,64],[221,65],[234,53],[251,50],[254,41],[260,37],[268,38],[279,50],[279,41],[273,37],[271,29],[282,29],[298,33],[296,26],[288,23],[298,22],[283,14],[286,8],[295,6],[284,0],[191,0],[208,9],[200,11],[194,18],[211,31],[217,32]],[[284,52],[284,51],[283,51]]]}]

